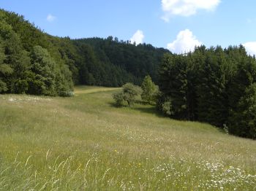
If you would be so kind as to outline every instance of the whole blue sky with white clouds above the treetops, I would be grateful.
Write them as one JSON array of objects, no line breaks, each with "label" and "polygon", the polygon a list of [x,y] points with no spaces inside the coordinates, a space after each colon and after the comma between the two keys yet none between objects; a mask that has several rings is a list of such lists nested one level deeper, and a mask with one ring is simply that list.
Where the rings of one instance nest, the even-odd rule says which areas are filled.
[{"label": "whole blue sky with white clouds above the treetops", "polygon": [[243,44],[256,54],[255,0],[1,0],[0,7],[54,36],[113,36],[176,53]]}]

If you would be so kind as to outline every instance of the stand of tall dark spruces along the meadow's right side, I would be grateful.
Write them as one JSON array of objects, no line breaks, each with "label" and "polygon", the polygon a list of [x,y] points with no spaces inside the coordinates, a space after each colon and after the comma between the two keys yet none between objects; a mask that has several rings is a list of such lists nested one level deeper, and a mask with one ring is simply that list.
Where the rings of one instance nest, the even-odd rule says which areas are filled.
[{"label": "stand of tall dark spruces along the meadow's right side", "polygon": [[159,67],[159,90],[157,108],[167,116],[256,138],[256,60],[242,45],[166,54]]}]

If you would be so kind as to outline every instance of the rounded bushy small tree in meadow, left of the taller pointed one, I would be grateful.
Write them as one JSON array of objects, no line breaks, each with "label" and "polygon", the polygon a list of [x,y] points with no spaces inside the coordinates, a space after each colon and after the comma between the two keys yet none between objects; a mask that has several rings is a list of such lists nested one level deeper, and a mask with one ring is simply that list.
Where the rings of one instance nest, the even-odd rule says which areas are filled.
[{"label": "rounded bushy small tree in meadow, left of the taller pointed one", "polygon": [[116,101],[117,106],[121,106],[123,101],[127,101],[128,106],[132,106],[140,93],[140,87],[133,85],[132,83],[127,83],[123,85],[121,92],[113,94],[113,99]]}]

